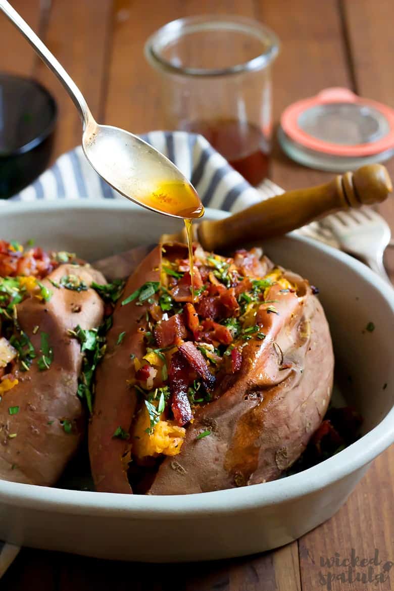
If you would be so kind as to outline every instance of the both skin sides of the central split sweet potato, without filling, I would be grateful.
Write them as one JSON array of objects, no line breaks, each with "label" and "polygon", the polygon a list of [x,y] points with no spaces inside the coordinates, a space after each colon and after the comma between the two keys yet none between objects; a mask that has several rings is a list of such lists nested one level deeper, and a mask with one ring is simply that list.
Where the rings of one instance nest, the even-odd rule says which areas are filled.
[{"label": "both skin sides of the central split sweet potato, without filling", "polygon": [[[121,300],[145,281],[159,281],[161,249],[149,254],[126,284]],[[306,280],[288,273],[297,293],[269,289],[279,312],[262,313],[266,338],[250,339],[242,366],[226,376],[215,400],[194,411],[181,452],[166,457],[147,491],[181,495],[266,482],[278,478],[304,451],[330,401],[334,356],[323,308]],[[136,394],[129,355],[145,352],[145,306],[118,302],[108,349],[97,371],[96,401],[89,429],[89,453],[97,491],[131,493],[127,466],[131,443],[113,439],[118,426],[129,431]],[[121,332],[122,346],[116,346]],[[203,431],[210,431],[198,439]]]}]

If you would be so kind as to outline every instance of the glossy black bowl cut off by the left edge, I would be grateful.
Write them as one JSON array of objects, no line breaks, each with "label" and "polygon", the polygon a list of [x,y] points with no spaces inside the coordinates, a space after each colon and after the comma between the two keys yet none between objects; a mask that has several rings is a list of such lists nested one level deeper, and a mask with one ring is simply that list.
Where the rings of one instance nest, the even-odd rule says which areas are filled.
[{"label": "glossy black bowl cut off by the left edge", "polygon": [[57,106],[35,80],[0,73],[0,199],[32,183],[50,159]]}]

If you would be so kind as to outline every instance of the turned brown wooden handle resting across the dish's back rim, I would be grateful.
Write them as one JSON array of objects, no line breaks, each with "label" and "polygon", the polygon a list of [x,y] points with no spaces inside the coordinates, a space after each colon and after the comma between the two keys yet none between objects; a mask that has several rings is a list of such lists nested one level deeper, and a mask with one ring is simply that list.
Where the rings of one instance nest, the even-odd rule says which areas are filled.
[{"label": "turned brown wooden handle resting across the dish's back rim", "polygon": [[354,173],[338,175],[330,183],[287,191],[223,220],[201,222],[194,237],[207,251],[242,246],[285,234],[338,210],[380,203],[392,190],[386,168],[367,164]]}]

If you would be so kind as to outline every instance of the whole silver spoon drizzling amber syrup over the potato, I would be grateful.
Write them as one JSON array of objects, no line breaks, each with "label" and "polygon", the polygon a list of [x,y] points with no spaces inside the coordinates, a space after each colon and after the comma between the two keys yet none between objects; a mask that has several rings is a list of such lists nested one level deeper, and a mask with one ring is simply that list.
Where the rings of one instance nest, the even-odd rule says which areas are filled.
[{"label": "whole silver spoon drizzling amber syrup over the potato", "polygon": [[96,123],[82,92],[63,66],[6,0],[0,9],[58,77],[83,122],[82,148],[96,172],[133,202],[172,217],[193,218],[204,209],[197,191],[168,158],[136,135]]}]

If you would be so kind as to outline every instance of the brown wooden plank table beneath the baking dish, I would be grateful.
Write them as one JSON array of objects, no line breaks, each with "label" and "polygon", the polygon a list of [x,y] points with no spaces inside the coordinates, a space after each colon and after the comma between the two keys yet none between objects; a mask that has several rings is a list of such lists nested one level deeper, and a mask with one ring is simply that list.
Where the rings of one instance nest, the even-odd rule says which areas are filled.
[{"label": "brown wooden plank table beneath the baking dish", "polygon": [[[394,107],[392,0],[11,0],[80,86],[97,121],[133,132],[159,129],[161,96],[142,48],[167,21],[209,12],[265,22],[282,40],[273,69],[274,115],[324,87],[347,86]],[[41,7],[41,10],[40,10]],[[30,46],[0,15],[0,70],[33,74],[60,105],[54,157],[79,144],[71,100]],[[394,177],[394,161],[388,163]],[[285,188],[320,183],[328,174],[289,161],[274,147],[271,178]],[[394,230],[394,202],[380,212]],[[390,256],[391,255],[391,256]],[[386,267],[394,277],[394,256]],[[346,505],[330,521],[279,550],[220,563],[152,566],[112,563],[23,549],[0,583],[2,591],[165,590],[316,591],[320,557],[339,553],[394,561],[394,447],[373,462]],[[105,532],[103,532],[105,538]],[[185,532],[185,540],[193,532]],[[328,570],[339,574],[346,569]],[[362,569],[365,570],[365,569]],[[390,580],[332,583],[334,591],[394,588]]]}]

